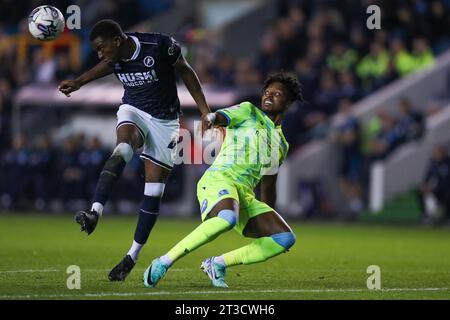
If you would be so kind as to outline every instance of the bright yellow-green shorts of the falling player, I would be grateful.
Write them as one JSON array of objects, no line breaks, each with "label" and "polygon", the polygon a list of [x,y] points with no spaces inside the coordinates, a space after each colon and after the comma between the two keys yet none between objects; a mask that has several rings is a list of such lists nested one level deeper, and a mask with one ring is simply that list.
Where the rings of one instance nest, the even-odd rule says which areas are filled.
[{"label": "bright yellow-green shorts of the falling player", "polygon": [[239,218],[234,229],[240,234],[251,218],[275,211],[266,203],[256,199],[253,190],[235,183],[233,179],[217,171],[206,171],[199,180],[197,198],[202,221],[219,201],[227,198],[235,199],[239,203]]}]

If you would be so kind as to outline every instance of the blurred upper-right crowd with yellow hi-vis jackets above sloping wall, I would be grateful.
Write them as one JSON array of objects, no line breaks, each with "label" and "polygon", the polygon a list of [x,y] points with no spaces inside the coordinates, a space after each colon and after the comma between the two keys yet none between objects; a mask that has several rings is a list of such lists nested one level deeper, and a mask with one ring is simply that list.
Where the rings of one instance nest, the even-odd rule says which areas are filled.
[{"label": "blurred upper-right crowd with yellow hi-vis jackets above sloping wall", "polygon": [[[282,17],[264,33],[258,66],[264,72],[293,69],[303,84],[307,103],[294,106],[285,125],[293,150],[325,137],[342,103],[432,65],[450,44],[446,1],[285,4]],[[369,4],[381,8],[381,30],[365,26]]]}]

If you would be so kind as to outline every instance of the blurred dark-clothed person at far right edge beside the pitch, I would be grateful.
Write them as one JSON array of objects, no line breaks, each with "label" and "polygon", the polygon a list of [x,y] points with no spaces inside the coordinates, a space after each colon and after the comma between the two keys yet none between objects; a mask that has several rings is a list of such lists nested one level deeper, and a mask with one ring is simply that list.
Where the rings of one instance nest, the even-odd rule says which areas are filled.
[{"label": "blurred dark-clothed person at far right edge beside the pitch", "polygon": [[[443,145],[433,150],[431,161],[419,192],[422,208],[422,222],[450,223],[450,158]],[[442,207],[442,217],[436,217],[438,207]]]}]

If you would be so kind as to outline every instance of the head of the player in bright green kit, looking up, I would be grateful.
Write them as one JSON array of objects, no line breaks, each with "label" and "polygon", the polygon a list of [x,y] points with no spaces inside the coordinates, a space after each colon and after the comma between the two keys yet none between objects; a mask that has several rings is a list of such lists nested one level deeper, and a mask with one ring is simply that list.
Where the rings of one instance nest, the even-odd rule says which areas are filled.
[{"label": "head of the player in bright green kit, looking up", "polygon": [[262,91],[261,109],[267,114],[284,113],[293,102],[303,101],[297,78],[284,71],[269,74]]}]

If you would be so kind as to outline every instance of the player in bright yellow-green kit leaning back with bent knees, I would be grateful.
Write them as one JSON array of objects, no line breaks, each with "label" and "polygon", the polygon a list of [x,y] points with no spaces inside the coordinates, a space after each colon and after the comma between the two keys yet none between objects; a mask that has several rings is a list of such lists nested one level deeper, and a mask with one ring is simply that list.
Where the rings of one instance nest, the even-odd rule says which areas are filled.
[{"label": "player in bright yellow-green kit leaning back with bent knees", "polygon": [[[243,102],[207,116],[208,126],[226,127],[227,132],[220,153],[197,184],[203,222],[152,261],[144,273],[146,287],[154,287],[175,261],[233,228],[255,240],[202,262],[216,287],[227,287],[227,268],[263,262],[292,247],[295,234],[273,208],[278,168],[289,147],[280,123],[297,100],[302,100],[297,79],[278,72],[266,79],[260,108]],[[253,192],[258,183],[260,200]]]}]

